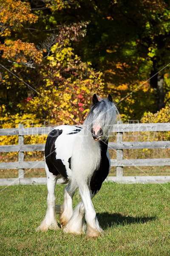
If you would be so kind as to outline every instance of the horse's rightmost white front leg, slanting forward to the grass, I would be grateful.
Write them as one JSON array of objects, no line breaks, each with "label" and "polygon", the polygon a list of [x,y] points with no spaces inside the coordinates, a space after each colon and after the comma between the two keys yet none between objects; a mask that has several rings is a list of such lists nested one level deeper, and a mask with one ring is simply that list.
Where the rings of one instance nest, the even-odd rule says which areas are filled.
[{"label": "horse's rightmost white front leg, slanting forward to the grass", "polygon": [[85,220],[87,222],[87,233],[88,238],[97,237],[100,233],[103,233],[102,228],[99,226],[99,221],[96,218],[96,211],[91,201],[90,191],[87,185],[79,186],[79,193],[82,198],[82,202],[85,208]]}]

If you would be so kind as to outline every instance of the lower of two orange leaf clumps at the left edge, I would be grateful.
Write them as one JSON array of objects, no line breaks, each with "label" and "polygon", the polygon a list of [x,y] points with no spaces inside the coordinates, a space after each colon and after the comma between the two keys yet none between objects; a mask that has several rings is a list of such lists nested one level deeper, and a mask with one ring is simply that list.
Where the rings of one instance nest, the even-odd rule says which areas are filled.
[{"label": "lower of two orange leaf clumps at the left edge", "polygon": [[29,66],[34,63],[40,64],[43,57],[42,51],[37,50],[34,44],[25,43],[21,40],[8,40],[5,44],[0,44],[0,50],[3,50],[3,58],[18,64],[28,64]]}]

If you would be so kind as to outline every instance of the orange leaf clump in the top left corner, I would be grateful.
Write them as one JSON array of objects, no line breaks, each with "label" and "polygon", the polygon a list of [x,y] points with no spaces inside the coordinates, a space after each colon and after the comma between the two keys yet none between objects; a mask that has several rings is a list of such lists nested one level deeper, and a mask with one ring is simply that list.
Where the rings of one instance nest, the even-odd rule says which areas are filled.
[{"label": "orange leaf clump in the top left corner", "polygon": [[23,22],[34,23],[37,16],[31,13],[29,3],[18,0],[0,0],[0,36],[9,36]]}]

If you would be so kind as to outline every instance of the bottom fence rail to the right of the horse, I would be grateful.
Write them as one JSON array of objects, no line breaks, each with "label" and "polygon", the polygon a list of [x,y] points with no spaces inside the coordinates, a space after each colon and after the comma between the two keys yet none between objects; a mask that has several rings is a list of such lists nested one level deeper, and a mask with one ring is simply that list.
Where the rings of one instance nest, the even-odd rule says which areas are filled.
[{"label": "bottom fence rail to the right of the horse", "polygon": [[107,177],[106,182],[113,181],[116,183],[166,183],[170,182],[170,176],[123,176],[123,177]]}]

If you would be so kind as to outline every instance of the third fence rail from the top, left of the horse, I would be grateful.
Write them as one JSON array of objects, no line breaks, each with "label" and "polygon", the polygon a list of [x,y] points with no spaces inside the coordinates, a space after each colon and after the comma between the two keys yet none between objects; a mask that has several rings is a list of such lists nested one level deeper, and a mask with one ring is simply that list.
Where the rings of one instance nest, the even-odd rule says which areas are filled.
[{"label": "third fence rail from the top, left of the horse", "polygon": [[22,164],[18,162],[0,163],[0,169],[29,169],[29,168],[45,168],[45,161],[24,161]]}]

